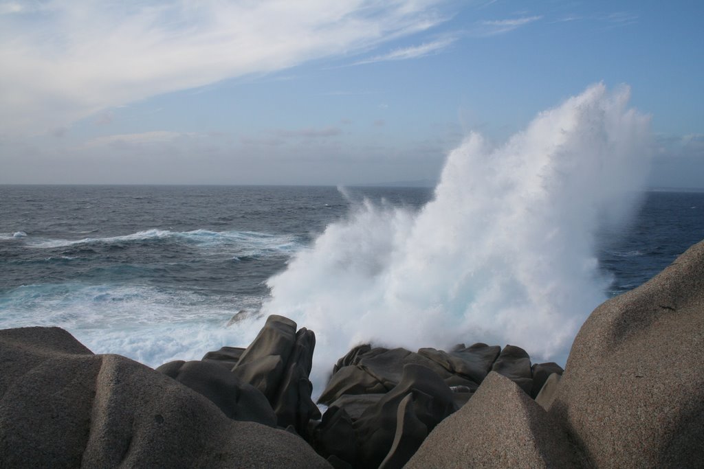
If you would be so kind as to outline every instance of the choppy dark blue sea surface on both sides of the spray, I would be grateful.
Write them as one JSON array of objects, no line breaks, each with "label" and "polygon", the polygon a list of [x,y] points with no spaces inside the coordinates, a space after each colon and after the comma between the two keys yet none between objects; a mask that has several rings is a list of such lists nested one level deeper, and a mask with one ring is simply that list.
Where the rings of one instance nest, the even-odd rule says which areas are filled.
[{"label": "choppy dark blue sea surface on both sides of the spray", "polygon": [[[364,198],[420,210],[429,188],[0,186],[0,328],[61,326],[149,366],[246,345],[268,278]],[[648,192],[601,231],[606,296],[704,238],[704,193]],[[470,242],[470,240],[467,240]],[[305,326],[303,324],[299,326]],[[239,342],[239,343],[238,343]]]}]

